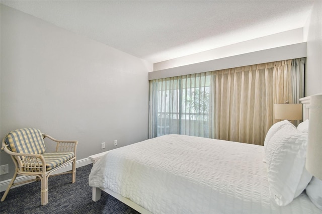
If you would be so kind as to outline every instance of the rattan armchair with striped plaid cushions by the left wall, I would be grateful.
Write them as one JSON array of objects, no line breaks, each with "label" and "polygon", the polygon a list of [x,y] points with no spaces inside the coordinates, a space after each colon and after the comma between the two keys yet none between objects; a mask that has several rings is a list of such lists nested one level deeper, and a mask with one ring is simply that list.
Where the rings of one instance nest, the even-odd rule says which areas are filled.
[{"label": "rattan armchair with striped plaid cushions by the left wall", "polygon": [[[56,142],[56,151],[47,152],[44,138],[50,142]],[[59,168],[72,163],[72,169],[67,172],[54,175],[72,174],[71,182],[75,182],[76,176],[76,146],[78,141],[56,140],[49,135],[43,134],[38,129],[27,128],[11,131],[2,141],[2,150],[10,154],[15,165],[15,174],[1,201],[4,201],[12,186],[27,183],[30,181],[41,181],[41,204],[48,203],[48,178]],[[17,175],[36,176],[28,181],[14,183]]]}]

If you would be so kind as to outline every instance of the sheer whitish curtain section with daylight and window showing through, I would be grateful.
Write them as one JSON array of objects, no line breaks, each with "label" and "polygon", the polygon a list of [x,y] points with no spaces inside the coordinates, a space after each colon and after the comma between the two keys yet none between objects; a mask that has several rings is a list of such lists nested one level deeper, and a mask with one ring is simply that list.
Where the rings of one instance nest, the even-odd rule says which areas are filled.
[{"label": "sheer whitish curtain section with daylight and window showing through", "polygon": [[210,72],[150,81],[149,138],[209,137]]}]

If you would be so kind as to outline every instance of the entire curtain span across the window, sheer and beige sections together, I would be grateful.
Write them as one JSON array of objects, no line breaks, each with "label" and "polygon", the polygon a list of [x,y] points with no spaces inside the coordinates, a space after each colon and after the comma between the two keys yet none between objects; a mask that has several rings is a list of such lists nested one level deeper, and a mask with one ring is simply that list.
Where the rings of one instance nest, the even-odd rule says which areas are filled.
[{"label": "entire curtain span across the window, sheer and beige sections together", "polygon": [[149,138],[183,134],[263,145],[276,122],[274,103],[293,103],[303,91],[304,62],[151,80]]}]

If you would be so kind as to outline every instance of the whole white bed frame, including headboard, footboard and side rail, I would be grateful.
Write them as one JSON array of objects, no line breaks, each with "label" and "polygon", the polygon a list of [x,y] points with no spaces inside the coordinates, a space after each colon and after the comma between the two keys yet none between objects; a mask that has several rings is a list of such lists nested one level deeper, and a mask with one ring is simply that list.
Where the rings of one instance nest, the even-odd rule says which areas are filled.
[{"label": "whole white bed frame, including headboard, footboard and side rail", "polygon": [[[322,93],[320,94],[314,94],[314,95],[319,95],[322,96]],[[311,96],[307,96],[307,97],[303,97],[300,99],[300,101],[303,103],[303,121],[308,119],[309,116],[309,104],[310,104],[310,97]],[[90,160],[92,161],[93,165],[105,154],[107,154],[109,151],[107,152],[102,152],[99,154],[95,154],[95,155],[91,155],[89,156]],[[94,201],[98,201],[101,199],[101,192],[102,190],[110,195],[112,195],[113,197],[115,197],[116,199],[122,201],[123,203],[125,203],[126,205],[132,207],[133,209],[135,209],[136,211],[145,214],[145,213],[149,213],[151,214],[150,211],[146,210],[145,208],[143,208],[142,206],[134,203],[133,201],[131,201],[129,198],[123,197],[122,195],[111,191],[110,189],[107,188],[99,188],[99,187],[93,187],[93,192],[92,192],[92,199]]]}]

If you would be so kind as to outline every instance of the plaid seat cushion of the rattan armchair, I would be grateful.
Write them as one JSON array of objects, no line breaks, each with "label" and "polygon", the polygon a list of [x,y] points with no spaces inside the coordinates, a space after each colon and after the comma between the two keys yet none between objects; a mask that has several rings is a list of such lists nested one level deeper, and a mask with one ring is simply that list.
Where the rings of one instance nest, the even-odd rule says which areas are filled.
[{"label": "plaid seat cushion of the rattan armchair", "polygon": [[54,169],[75,157],[75,153],[73,152],[48,152],[42,155],[46,161],[47,171]]}]

